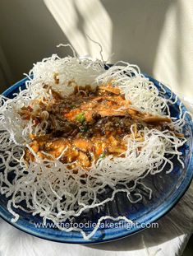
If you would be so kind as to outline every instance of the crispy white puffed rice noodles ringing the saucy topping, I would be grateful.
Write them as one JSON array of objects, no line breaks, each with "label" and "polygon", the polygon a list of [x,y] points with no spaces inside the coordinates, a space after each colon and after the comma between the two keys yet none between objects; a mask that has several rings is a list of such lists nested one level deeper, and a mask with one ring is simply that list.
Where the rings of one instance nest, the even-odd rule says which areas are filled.
[{"label": "crispy white puffed rice noodles ringing the saucy topping", "polygon": [[[57,74],[58,83],[54,80]],[[66,164],[59,161],[59,157],[53,160],[43,160],[37,156],[29,146],[30,133],[45,132],[46,120],[34,128],[32,121],[26,123],[21,119],[18,110],[22,106],[29,105],[31,100],[45,97],[50,100],[50,95],[44,89],[49,85],[61,95],[69,95],[76,85],[97,86],[112,81],[113,86],[119,86],[127,100],[131,100],[132,107],[154,115],[166,115],[170,117],[168,103],[171,100],[164,98],[164,91],[159,90],[154,83],[145,78],[139,67],[129,63],[119,62],[105,70],[101,60],[80,59],[74,57],[59,58],[53,54],[50,58],[44,58],[36,63],[29,73],[29,81],[26,81],[26,89],[20,91],[14,99],[1,97],[0,107],[0,189],[6,197],[10,197],[7,209],[13,215],[12,221],[17,221],[19,215],[14,208],[39,214],[44,222],[53,221],[59,229],[58,223],[70,221],[71,218],[80,216],[91,208],[101,207],[106,202],[113,201],[116,193],[126,193],[130,202],[139,202],[142,198],[136,193],[136,199],[131,198],[131,192],[135,191],[136,184],[142,184],[146,175],[155,175],[161,171],[169,173],[173,169],[172,156],[177,156],[178,161],[184,165],[180,156],[181,147],[186,138],[176,137],[171,131],[163,132],[157,129],[145,128],[139,133],[144,133],[144,141],[135,140],[135,136],[126,136],[127,149],[125,157],[106,156],[93,162],[90,171],[77,168],[72,172]],[[33,77],[33,78],[31,78]],[[185,123],[185,114],[179,120],[173,120],[175,132],[181,133]],[[131,134],[134,135],[131,127]],[[28,147],[35,156],[35,161],[25,165],[24,153]],[[139,150],[140,149],[140,150]],[[167,157],[168,154],[171,157]],[[7,176],[15,175],[12,181]],[[128,185],[130,181],[134,184]],[[122,184],[122,189],[117,185]],[[99,194],[105,192],[105,188],[112,189],[112,193],[99,200]],[[145,186],[145,185],[144,185]],[[154,193],[149,191],[149,198]],[[21,202],[26,208],[21,207]],[[66,231],[77,230],[85,239],[90,239],[99,228],[101,221],[125,220],[126,216],[102,216],[98,220],[94,230],[86,235],[84,230],[69,228]]]}]

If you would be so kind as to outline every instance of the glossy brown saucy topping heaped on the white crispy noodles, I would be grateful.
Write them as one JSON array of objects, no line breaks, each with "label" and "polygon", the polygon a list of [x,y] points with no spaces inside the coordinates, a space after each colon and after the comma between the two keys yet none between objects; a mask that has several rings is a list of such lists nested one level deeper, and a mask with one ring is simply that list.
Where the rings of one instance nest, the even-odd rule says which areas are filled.
[{"label": "glossy brown saucy topping heaped on the white crispy noodles", "polygon": [[[76,86],[71,95],[64,97],[47,85],[44,88],[51,99],[42,97],[20,110],[21,118],[31,119],[34,126],[45,123],[45,133],[30,134],[30,147],[40,158],[57,158],[71,164],[69,168],[89,170],[93,161],[105,156],[124,157],[126,135],[143,141],[140,130],[164,130],[171,122],[167,117],[133,109],[131,101],[111,83],[94,89]],[[25,161],[34,161],[29,149],[25,150]]]}]

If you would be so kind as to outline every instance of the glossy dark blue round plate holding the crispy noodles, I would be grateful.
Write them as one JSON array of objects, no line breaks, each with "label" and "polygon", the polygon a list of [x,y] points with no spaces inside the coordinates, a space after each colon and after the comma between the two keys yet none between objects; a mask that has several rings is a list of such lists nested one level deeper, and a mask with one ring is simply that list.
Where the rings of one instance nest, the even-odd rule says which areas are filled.
[{"label": "glossy dark blue round plate holding the crispy noodles", "polygon": [[[145,75],[146,77],[149,77]],[[149,77],[150,81],[153,81],[155,86],[161,90],[159,82]],[[4,91],[3,95],[13,98],[14,93],[21,89],[25,89],[26,78],[18,81],[14,86],[11,86],[7,91]],[[165,97],[169,98],[172,95],[174,100],[175,95],[172,94],[168,88],[165,88]],[[179,115],[179,105],[180,100],[177,100],[175,105],[170,106],[170,111],[173,117],[178,117]],[[186,107],[182,105],[183,113],[186,111]],[[143,182],[153,190],[153,197],[149,200],[148,193],[140,187],[137,187],[141,194],[143,194],[143,200],[136,204],[131,204],[126,199],[124,193],[118,193],[113,202],[108,202],[107,206],[102,212],[94,212],[93,210],[85,213],[84,216],[79,221],[92,221],[96,222],[99,216],[111,215],[111,216],[126,216],[132,221],[137,222],[137,226],[126,226],[126,223],[120,221],[117,222],[117,226],[114,225],[111,228],[103,228],[101,226],[99,230],[90,240],[84,240],[79,232],[65,232],[62,230],[57,230],[52,227],[35,227],[34,223],[41,223],[42,219],[40,216],[32,216],[28,213],[18,210],[20,214],[20,219],[16,223],[11,223],[11,214],[7,211],[7,198],[0,196],[0,216],[11,223],[11,225],[16,228],[25,231],[31,235],[38,236],[46,240],[53,240],[57,242],[64,243],[74,243],[74,244],[91,244],[106,242],[109,240],[116,240],[122,238],[126,235],[134,234],[135,232],[143,229],[149,223],[157,221],[160,217],[166,214],[171,208],[177,203],[177,201],[186,192],[186,189],[191,184],[191,179],[193,176],[193,123],[191,118],[186,115],[186,126],[184,128],[185,136],[188,138],[188,142],[181,148],[182,158],[185,163],[185,168],[182,169],[182,165],[179,165],[176,159],[173,159],[174,168],[172,172],[168,175],[165,174],[163,170],[157,175],[149,175]],[[106,213],[106,214],[105,214]],[[116,224],[113,221],[108,221],[109,223]],[[89,231],[89,229],[87,230]]]}]

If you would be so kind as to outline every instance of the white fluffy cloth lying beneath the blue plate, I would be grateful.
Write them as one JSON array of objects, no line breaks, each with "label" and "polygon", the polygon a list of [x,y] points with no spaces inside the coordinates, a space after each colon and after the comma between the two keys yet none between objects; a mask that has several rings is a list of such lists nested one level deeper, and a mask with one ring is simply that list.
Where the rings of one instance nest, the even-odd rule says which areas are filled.
[{"label": "white fluffy cloth lying beneath the blue plate", "polygon": [[1,256],[175,256],[183,249],[193,230],[193,183],[183,198],[159,222],[158,229],[142,230],[106,244],[61,244],[26,235],[0,221]]}]

